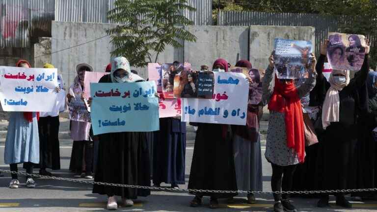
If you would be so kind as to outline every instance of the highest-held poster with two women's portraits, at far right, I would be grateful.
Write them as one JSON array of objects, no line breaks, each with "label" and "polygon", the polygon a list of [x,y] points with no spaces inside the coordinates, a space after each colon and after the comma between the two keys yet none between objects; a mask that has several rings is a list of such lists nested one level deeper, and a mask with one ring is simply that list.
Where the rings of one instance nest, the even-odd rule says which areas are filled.
[{"label": "highest-held poster with two women's portraits, at far right", "polygon": [[332,69],[359,71],[365,57],[365,36],[330,32],[327,58]]}]

